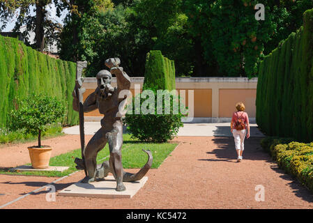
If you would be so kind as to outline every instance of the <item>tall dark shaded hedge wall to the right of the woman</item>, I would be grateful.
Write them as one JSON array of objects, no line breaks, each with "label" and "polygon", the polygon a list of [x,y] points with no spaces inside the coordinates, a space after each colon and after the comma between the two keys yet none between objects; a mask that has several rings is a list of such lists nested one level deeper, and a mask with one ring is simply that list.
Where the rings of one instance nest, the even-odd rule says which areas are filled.
[{"label": "tall dark shaded hedge wall to the right of the woman", "polygon": [[257,124],[269,136],[313,141],[313,9],[259,66]]}]

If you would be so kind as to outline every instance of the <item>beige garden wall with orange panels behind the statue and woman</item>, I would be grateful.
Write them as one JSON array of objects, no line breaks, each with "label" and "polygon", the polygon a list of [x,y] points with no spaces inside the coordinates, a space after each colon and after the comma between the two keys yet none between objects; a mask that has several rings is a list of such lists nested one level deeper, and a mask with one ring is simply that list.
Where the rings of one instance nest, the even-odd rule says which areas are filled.
[{"label": "beige garden wall with orange panels behind the statue and woman", "polygon": [[[130,91],[135,95],[135,84],[138,93],[141,91],[139,89],[142,89],[144,77],[131,77],[131,81]],[[112,86],[116,86],[115,78],[112,80]],[[85,99],[96,89],[96,78],[84,78],[83,87],[86,89]],[[236,102],[240,101],[245,104],[246,112],[252,122],[255,120],[257,78],[178,77],[176,90],[182,98],[185,98],[186,105],[190,97],[193,98],[195,122],[228,122],[235,111]],[[94,111],[86,113],[85,119],[96,121],[100,116],[98,111]]]}]

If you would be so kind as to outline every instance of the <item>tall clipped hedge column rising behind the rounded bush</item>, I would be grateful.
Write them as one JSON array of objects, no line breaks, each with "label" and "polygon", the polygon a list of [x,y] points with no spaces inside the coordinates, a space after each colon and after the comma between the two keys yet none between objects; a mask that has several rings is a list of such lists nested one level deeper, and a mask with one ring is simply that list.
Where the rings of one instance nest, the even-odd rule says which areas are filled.
[{"label": "tall clipped hedge column rising behind the rounded bush", "polygon": [[160,50],[151,50],[146,56],[143,89],[176,89],[174,61],[162,56]]}]

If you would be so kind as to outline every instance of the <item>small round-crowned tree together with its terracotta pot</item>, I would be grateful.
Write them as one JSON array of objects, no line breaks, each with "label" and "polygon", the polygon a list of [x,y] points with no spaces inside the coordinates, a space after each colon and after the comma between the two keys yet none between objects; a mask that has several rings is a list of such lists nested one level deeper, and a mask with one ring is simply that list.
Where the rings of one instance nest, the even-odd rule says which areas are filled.
[{"label": "small round-crowned tree together with its terracotta pot", "polygon": [[48,124],[56,123],[66,115],[64,102],[49,95],[33,94],[19,100],[18,108],[10,115],[13,129],[24,129],[26,133],[38,136],[38,145],[28,147],[31,166],[34,169],[49,167],[52,147],[43,146],[41,136]]}]

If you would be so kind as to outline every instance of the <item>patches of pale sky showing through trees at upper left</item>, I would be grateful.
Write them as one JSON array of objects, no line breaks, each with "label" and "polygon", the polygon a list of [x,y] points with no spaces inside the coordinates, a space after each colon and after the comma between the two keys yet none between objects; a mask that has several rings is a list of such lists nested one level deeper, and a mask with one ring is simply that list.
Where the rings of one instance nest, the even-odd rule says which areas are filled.
[{"label": "patches of pale sky showing through trees at upper left", "polygon": [[[33,12],[33,9],[35,9],[34,6],[31,6],[31,15],[36,15],[36,13]],[[51,18],[51,19],[54,19],[56,20],[56,22],[59,22],[60,24],[63,25],[63,19],[64,17],[66,17],[66,14],[68,13],[67,10],[65,10],[62,14],[61,14],[61,17],[57,17],[56,16],[56,7],[54,5],[54,3],[51,3],[47,6],[47,14],[48,14],[48,17]],[[17,13],[19,12],[19,10],[17,10]],[[16,22],[16,17],[17,17],[18,14],[15,15],[15,17],[13,17],[13,20],[10,20],[6,26],[6,29],[3,29],[2,31],[3,32],[9,32],[9,31],[12,31],[12,29],[14,28],[15,26],[15,22]],[[2,23],[0,22],[0,26],[2,25]]]}]

